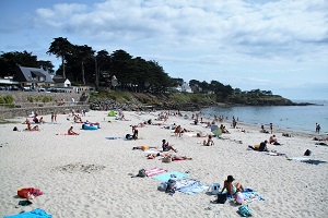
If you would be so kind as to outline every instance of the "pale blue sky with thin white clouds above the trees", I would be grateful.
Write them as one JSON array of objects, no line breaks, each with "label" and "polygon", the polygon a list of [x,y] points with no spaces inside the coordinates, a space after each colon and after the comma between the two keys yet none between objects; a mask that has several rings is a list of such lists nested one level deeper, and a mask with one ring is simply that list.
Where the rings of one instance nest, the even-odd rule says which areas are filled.
[{"label": "pale blue sky with thin white clouds above the trees", "polygon": [[171,77],[328,99],[327,0],[1,0],[0,51],[54,38],[154,60]]}]

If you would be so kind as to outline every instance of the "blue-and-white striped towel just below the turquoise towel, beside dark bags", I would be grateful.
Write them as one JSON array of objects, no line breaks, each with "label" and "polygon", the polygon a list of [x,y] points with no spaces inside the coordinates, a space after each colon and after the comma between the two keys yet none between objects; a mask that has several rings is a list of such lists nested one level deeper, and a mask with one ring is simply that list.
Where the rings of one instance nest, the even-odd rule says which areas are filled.
[{"label": "blue-and-white striped towel just below the turquoise towel, beside dark bags", "polygon": [[198,194],[204,190],[208,190],[209,185],[203,185],[200,181],[195,179],[184,178],[176,180],[175,187],[177,191],[185,194]]}]

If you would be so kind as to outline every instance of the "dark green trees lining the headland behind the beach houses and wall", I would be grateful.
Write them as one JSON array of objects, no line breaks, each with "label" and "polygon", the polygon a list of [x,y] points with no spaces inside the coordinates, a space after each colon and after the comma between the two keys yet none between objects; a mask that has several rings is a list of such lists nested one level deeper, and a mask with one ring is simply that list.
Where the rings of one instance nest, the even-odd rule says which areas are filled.
[{"label": "dark green trees lining the headland behind the beach houses and wall", "polygon": [[[141,57],[133,58],[125,50],[96,51],[87,45],[73,45],[67,38],[54,38],[48,51],[49,56],[61,59],[61,64],[55,72],[54,64],[48,60],[37,60],[37,57],[26,50],[1,52],[0,76],[13,76],[16,64],[30,68],[39,68],[50,74],[61,75],[77,85],[95,85],[99,87],[118,88],[120,90],[132,90],[137,93],[166,93],[174,87],[181,86],[183,78],[171,77],[164,69],[154,60],[144,60]],[[113,83],[114,76],[117,83]],[[224,85],[219,81],[210,83],[191,80],[189,86],[194,93],[214,94],[218,100],[241,98],[247,96],[271,96],[270,90],[254,89],[242,92],[231,85]],[[245,97],[246,96],[246,97]]]}]

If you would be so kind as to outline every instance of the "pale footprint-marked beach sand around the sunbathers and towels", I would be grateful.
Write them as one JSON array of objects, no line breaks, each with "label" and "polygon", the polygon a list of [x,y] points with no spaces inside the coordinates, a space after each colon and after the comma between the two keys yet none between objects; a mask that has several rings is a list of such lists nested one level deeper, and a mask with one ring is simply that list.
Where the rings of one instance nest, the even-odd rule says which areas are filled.
[{"label": "pale footprint-marked beach sand around the sunbathers and towels", "polygon": [[[81,130],[81,124],[68,121],[68,114],[58,114],[58,124],[42,124],[39,132],[22,131],[26,118],[16,118],[19,123],[0,124],[0,216],[15,215],[42,208],[52,217],[241,217],[238,205],[233,202],[212,204],[215,195],[209,191],[198,194],[176,192],[168,195],[157,191],[160,181],[152,178],[131,178],[140,169],[160,167],[168,171],[188,172],[189,178],[211,185],[220,183],[229,174],[244,186],[255,190],[265,201],[247,203],[254,217],[327,217],[328,189],[327,164],[306,164],[288,160],[284,156],[270,156],[247,149],[248,145],[269,140],[270,134],[259,133],[250,125],[232,129],[223,122],[231,134],[214,138],[214,146],[202,146],[202,137],[184,134],[174,135],[163,125],[138,128],[139,140],[124,140],[132,134],[131,126],[152,119],[159,112],[125,111],[129,121],[107,117],[106,111],[90,111],[83,120],[99,122],[96,131]],[[49,114],[43,114],[50,121]],[[112,121],[112,122],[108,122]],[[204,124],[191,124],[192,120],[171,116],[164,125],[180,124],[187,130],[210,133]],[[70,126],[80,133],[77,136],[56,135],[66,133]],[[13,131],[16,126],[20,131]],[[283,137],[274,130],[281,146],[268,145],[269,149],[328,161],[328,147],[315,145],[309,134],[293,134]],[[315,134],[314,134],[315,135]],[[107,140],[106,137],[118,137]],[[165,138],[177,150],[177,155],[192,160],[162,162],[148,159],[147,153],[132,150],[133,146],[157,146]],[[32,199],[30,206],[17,206],[21,198],[16,191],[22,187],[38,187],[44,194]]]}]

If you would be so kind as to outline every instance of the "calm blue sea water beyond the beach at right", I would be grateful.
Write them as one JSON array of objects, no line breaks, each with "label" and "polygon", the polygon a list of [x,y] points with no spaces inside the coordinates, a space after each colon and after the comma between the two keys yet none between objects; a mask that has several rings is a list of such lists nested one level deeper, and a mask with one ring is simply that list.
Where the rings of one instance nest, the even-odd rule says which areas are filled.
[{"label": "calm blue sea water beyond the beach at right", "polygon": [[258,124],[268,130],[270,123],[273,129],[292,130],[306,133],[315,133],[316,123],[321,128],[320,133],[328,132],[328,100],[294,100],[294,102],[312,102],[311,106],[270,106],[270,107],[212,107],[202,109],[206,116],[214,114],[227,118],[233,117],[237,122]]}]

